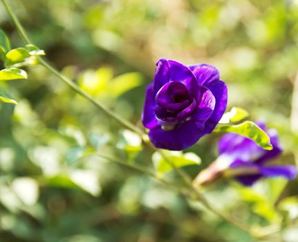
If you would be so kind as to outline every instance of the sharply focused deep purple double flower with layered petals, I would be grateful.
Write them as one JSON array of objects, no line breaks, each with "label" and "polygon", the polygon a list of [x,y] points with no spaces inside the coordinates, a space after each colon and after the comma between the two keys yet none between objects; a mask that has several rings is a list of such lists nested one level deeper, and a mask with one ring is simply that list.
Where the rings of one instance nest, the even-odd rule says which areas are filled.
[{"label": "sharply focused deep purple double flower with layered petals", "polygon": [[227,106],[227,86],[214,66],[160,59],[146,90],[142,123],[155,147],[179,151],[211,133]]}]

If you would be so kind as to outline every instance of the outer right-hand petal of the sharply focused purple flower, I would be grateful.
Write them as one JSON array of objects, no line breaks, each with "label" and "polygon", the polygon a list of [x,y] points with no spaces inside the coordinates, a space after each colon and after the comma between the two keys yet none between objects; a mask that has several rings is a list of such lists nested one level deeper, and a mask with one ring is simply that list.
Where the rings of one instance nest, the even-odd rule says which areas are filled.
[{"label": "outer right-hand petal of the sharply focused purple flower", "polygon": [[216,124],[221,120],[223,113],[225,113],[225,109],[227,109],[227,86],[225,85],[225,82],[217,80],[209,83],[207,88],[214,95],[216,104],[212,115],[205,124],[205,133],[211,133],[213,131]]}]

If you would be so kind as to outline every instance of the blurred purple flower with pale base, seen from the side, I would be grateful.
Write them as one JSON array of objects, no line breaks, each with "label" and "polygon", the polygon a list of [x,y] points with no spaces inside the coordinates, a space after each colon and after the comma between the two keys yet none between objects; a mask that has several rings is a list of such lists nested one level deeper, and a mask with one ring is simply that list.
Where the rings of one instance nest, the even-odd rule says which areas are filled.
[{"label": "blurred purple flower with pale base, seen from the side", "polygon": [[236,178],[245,186],[253,185],[260,178],[294,179],[297,176],[294,165],[270,165],[270,162],[282,152],[276,129],[266,130],[264,123],[258,125],[270,137],[273,149],[262,149],[249,138],[236,133],[227,133],[218,142],[218,158],[198,174],[194,180],[195,185],[207,185],[222,177]]}]

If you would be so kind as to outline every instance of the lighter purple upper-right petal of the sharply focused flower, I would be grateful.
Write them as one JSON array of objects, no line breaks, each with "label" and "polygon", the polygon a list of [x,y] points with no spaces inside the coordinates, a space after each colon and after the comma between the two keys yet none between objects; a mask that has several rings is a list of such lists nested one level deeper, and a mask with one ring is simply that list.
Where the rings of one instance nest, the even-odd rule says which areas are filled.
[{"label": "lighter purple upper-right petal of the sharply focused flower", "polygon": [[198,84],[202,86],[208,87],[212,82],[219,80],[219,71],[215,66],[209,64],[196,64],[188,67],[196,76]]}]

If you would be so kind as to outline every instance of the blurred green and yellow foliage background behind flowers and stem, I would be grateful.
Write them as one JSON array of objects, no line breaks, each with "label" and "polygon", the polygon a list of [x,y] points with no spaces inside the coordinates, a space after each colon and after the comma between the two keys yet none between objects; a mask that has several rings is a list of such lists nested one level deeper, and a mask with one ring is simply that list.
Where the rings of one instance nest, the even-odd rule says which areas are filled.
[{"label": "blurred green and yellow foliage background behind flowers and stem", "polygon": [[[228,105],[278,129],[285,150],[278,161],[295,163],[290,116],[295,115],[298,1],[9,2],[54,66],[139,127],[145,87],[160,57],[213,64],[227,83]],[[0,28],[12,47],[24,46],[3,6]],[[106,153],[152,167],[151,151],[133,133],[43,67],[27,71],[26,81],[1,83],[19,105],[0,103],[0,241],[254,241],[156,180],[91,156]],[[202,162],[185,171],[196,176],[207,167],[220,136],[187,149]],[[176,180],[174,172],[165,176]],[[252,188],[227,181],[204,194],[252,226],[281,224],[283,232],[268,241],[297,242],[297,185],[280,178]]]}]

